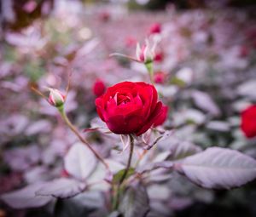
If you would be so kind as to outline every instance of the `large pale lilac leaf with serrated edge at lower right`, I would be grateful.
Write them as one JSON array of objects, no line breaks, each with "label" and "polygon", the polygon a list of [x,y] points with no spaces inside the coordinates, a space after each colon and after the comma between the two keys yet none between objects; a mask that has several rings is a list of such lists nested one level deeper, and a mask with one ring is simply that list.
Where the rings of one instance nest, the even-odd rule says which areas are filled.
[{"label": "large pale lilac leaf with serrated edge at lower right", "polygon": [[174,168],[195,184],[213,189],[242,186],[256,178],[256,161],[252,157],[220,147],[186,157]]}]

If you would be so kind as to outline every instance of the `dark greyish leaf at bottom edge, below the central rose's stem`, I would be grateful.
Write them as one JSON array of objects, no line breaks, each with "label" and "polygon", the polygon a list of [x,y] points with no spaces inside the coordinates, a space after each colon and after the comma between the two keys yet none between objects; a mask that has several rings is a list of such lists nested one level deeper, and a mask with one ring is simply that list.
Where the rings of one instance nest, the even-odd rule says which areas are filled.
[{"label": "dark greyish leaf at bottom edge, below the central rose's stem", "polygon": [[119,211],[124,217],[144,217],[149,211],[148,193],[141,184],[131,186],[121,198]]}]

